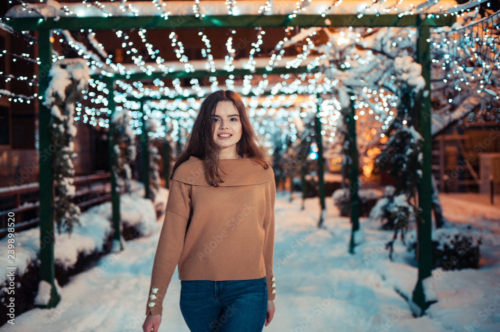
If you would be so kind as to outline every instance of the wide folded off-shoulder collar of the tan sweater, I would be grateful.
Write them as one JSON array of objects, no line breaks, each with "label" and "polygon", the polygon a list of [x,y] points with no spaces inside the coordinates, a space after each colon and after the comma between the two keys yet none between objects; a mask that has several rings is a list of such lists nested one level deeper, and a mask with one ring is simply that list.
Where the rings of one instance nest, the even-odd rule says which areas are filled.
[{"label": "wide folded off-shoulder collar of the tan sweater", "polygon": [[[221,187],[260,184],[274,178],[274,172],[270,166],[264,169],[253,158],[220,159],[219,165],[223,171],[219,171],[219,175],[224,181],[219,183]],[[203,169],[203,160],[191,156],[177,167],[172,179],[196,186],[209,186]]]}]

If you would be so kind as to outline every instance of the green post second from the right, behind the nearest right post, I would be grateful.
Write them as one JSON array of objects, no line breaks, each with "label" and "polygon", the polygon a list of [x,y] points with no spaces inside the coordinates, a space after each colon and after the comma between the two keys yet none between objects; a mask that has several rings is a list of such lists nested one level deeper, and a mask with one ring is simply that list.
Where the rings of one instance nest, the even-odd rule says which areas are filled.
[{"label": "green post second from the right, behind the nearest right post", "polygon": [[[356,122],[354,119],[355,108],[354,98],[350,95],[350,112],[347,117],[347,126],[349,128],[349,155],[350,155],[350,174],[349,174],[349,200],[350,200],[350,222],[352,224],[352,232],[350,237],[349,252],[354,253],[354,234],[359,230],[359,196],[358,178],[357,178],[357,144],[356,144]],[[343,105],[342,105],[343,106]],[[347,105],[345,105],[346,107]]]}]

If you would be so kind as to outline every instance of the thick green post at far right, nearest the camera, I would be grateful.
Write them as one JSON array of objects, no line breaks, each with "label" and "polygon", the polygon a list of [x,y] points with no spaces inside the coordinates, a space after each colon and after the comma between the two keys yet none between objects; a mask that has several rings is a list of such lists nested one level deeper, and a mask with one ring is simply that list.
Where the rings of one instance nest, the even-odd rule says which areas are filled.
[{"label": "thick green post at far right, nearest the camera", "polygon": [[[425,79],[425,88],[420,104],[420,113],[417,129],[423,137],[422,178],[418,185],[418,206],[421,214],[417,218],[418,239],[418,280],[413,290],[413,302],[420,307],[422,313],[431,302],[426,301],[423,290],[423,280],[432,272],[431,248],[431,209],[432,202],[432,174],[431,174],[431,132],[430,132],[430,41],[429,27],[420,25],[417,38],[417,62],[422,66],[422,76]],[[416,120],[416,119],[415,119]]]}]

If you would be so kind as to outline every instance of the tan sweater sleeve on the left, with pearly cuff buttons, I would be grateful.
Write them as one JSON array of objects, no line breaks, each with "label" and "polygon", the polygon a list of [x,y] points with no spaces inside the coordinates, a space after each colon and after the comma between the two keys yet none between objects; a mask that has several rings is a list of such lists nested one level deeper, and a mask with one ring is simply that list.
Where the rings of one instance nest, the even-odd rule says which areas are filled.
[{"label": "tan sweater sleeve on the left, with pearly cuff buttons", "polygon": [[165,220],[151,272],[146,316],[162,313],[163,298],[177,266],[191,210],[191,185],[172,180],[166,203]]}]

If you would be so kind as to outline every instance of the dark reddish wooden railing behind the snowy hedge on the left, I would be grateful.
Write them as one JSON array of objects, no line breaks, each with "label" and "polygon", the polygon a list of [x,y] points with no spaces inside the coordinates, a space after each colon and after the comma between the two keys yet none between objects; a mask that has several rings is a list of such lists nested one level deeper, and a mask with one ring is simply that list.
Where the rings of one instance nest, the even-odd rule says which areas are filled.
[{"label": "dark reddish wooden railing behind the snowy hedge on the left", "polygon": [[[78,176],[74,178],[73,184],[76,186],[73,203],[75,203],[81,211],[111,200],[109,173]],[[40,194],[42,193],[39,193],[38,182],[16,187],[0,188],[0,200],[5,200],[6,198],[10,198],[11,200],[13,197],[13,204],[10,204],[7,210],[0,211],[0,239],[7,234],[6,227],[9,213],[15,215],[15,232],[38,225]],[[23,200],[23,195],[28,197]],[[54,202],[57,200],[58,197],[54,196]]]}]

